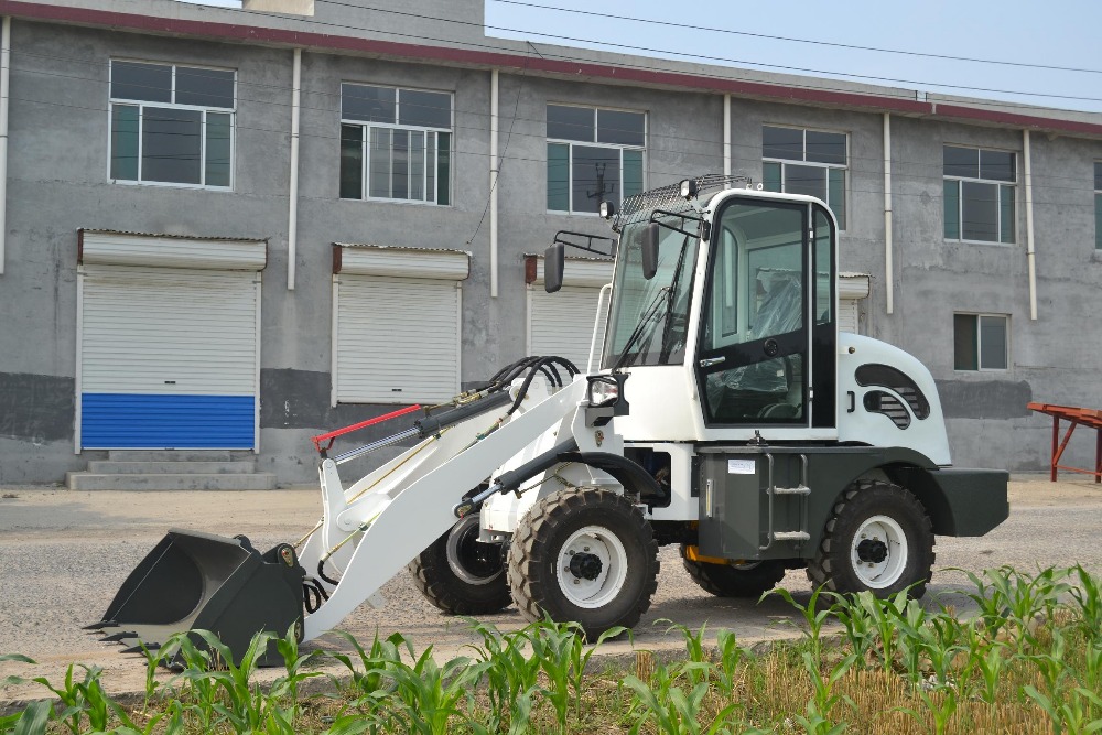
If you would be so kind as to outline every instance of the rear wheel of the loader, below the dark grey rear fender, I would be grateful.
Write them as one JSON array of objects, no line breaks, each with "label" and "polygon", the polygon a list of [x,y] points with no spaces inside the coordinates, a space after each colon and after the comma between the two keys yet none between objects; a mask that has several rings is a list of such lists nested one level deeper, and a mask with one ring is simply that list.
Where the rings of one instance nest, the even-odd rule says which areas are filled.
[{"label": "rear wheel of the loader, below the dark grey rear fender", "polygon": [[832,592],[868,591],[886,598],[926,594],[933,531],[922,504],[898,485],[862,480],[842,494],[827,522],[808,579]]}]

